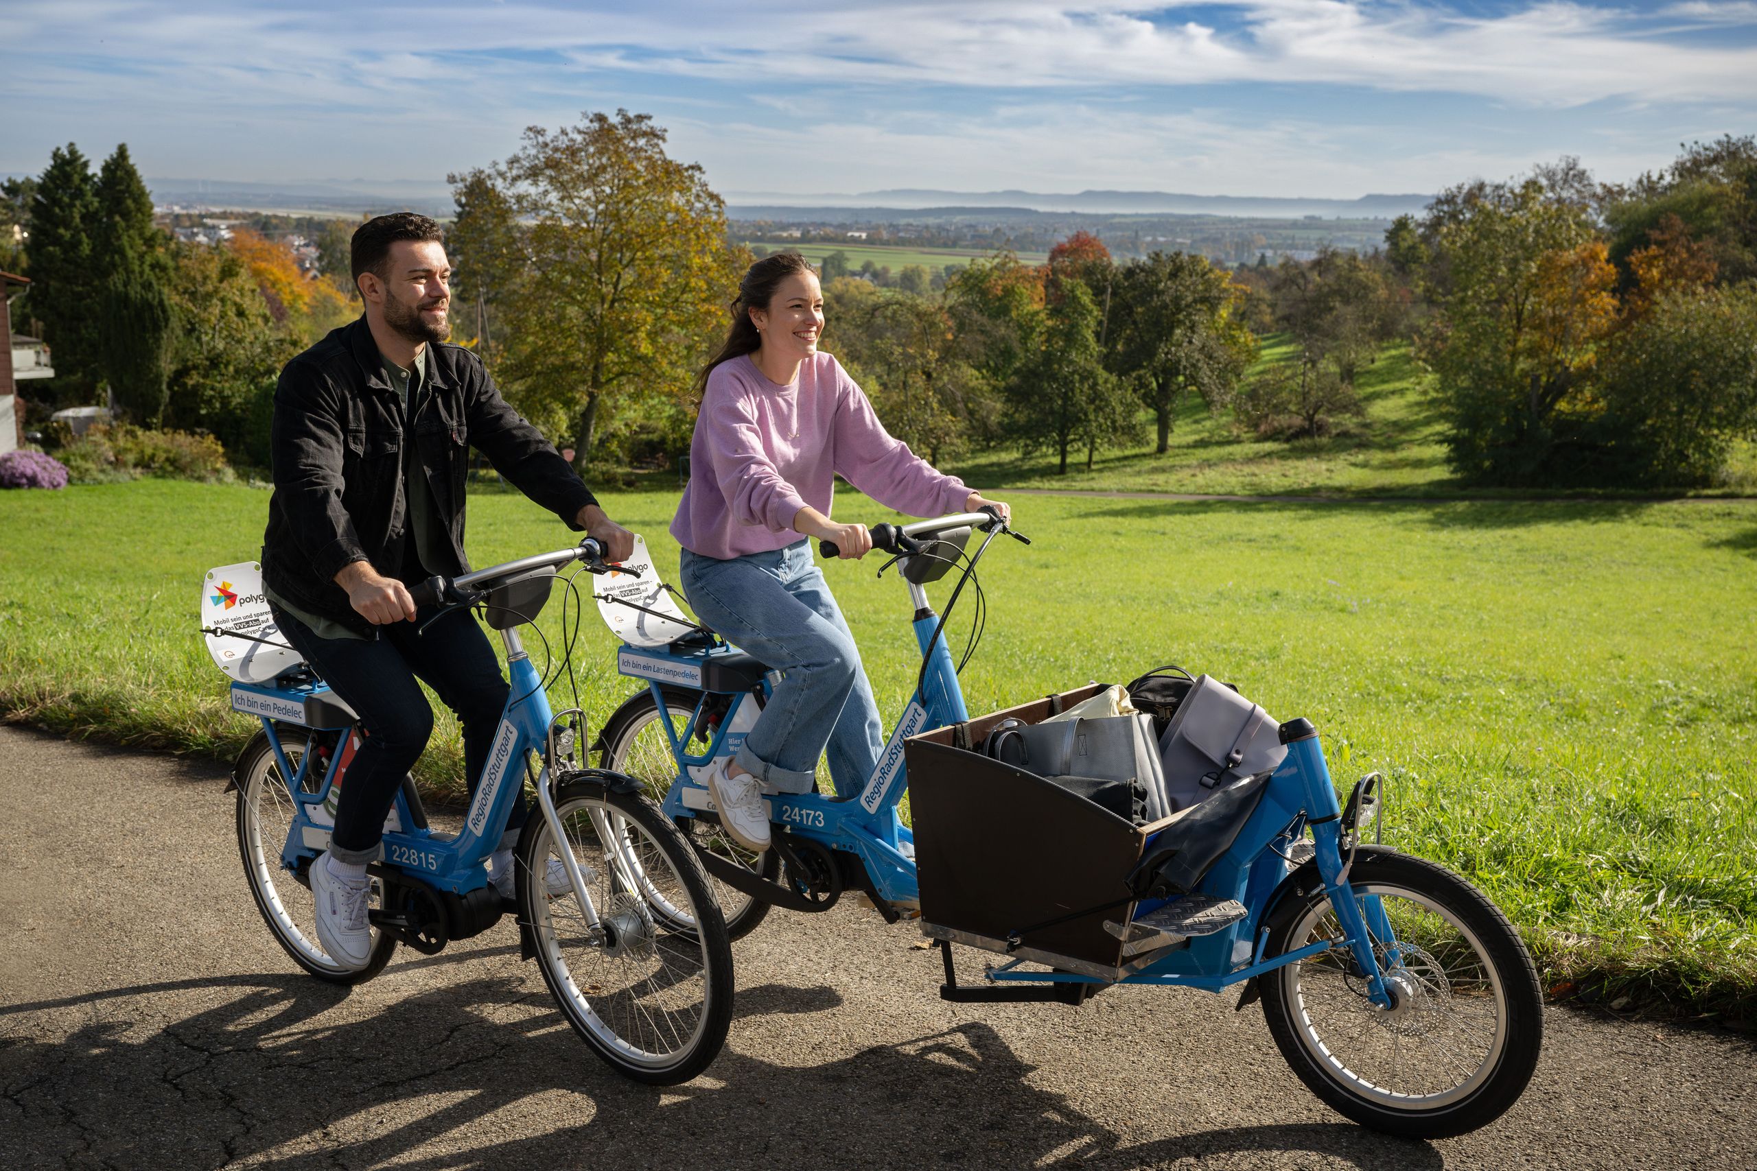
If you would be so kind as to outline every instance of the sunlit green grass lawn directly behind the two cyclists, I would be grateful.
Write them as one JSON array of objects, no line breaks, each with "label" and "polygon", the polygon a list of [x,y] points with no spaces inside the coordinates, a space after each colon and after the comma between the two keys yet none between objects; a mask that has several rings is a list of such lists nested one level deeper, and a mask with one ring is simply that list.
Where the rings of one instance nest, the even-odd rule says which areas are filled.
[{"label": "sunlit green grass lawn directly behind the two cyclists", "polygon": [[[608,500],[668,574],[675,502]],[[1017,504],[1035,544],[984,562],[972,711],[1165,662],[1209,671],[1276,718],[1314,720],[1339,783],[1386,771],[1388,839],[1481,883],[1551,981],[1750,1017],[1757,504]],[[197,590],[255,555],[265,507],[262,490],[165,481],[0,493],[0,709],[234,753],[253,725],[195,634]],[[887,518],[852,493],[838,514]],[[476,564],[566,542],[518,497],[473,502]],[[893,718],[915,653],[905,593],[873,569],[826,572]],[[552,644],[559,611],[543,614]],[[634,690],[611,658],[594,618],[578,657],[594,722]],[[441,722],[422,778],[457,792],[457,772]]]}]

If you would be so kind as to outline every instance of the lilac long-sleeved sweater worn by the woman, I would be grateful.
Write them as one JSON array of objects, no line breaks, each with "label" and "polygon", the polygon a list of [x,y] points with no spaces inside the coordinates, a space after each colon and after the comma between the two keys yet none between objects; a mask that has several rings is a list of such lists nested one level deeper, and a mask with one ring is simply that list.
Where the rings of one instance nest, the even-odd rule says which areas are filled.
[{"label": "lilac long-sleeved sweater worn by the woman", "polygon": [[748,356],[713,367],[689,462],[671,535],[720,560],[798,541],[792,518],[808,504],[829,516],[836,474],[910,516],[956,513],[970,497],[961,479],[886,432],[828,353],[801,362],[791,386],[771,383]]}]

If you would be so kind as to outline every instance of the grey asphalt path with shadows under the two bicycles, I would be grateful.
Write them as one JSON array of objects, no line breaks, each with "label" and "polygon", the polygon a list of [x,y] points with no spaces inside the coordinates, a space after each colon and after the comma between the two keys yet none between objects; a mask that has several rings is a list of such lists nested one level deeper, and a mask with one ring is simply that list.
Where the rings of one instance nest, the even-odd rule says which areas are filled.
[{"label": "grey asphalt path with shadows under the two bicycles", "polygon": [[1311,1097],[1230,997],[945,1004],[919,932],[854,906],[734,945],[720,1059],[640,1087],[504,922],[353,990],[300,974],[223,787],[0,727],[0,1167],[1757,1166],[1748,1038],[1553,1009],[1511,1113],[1399,1141]]}]

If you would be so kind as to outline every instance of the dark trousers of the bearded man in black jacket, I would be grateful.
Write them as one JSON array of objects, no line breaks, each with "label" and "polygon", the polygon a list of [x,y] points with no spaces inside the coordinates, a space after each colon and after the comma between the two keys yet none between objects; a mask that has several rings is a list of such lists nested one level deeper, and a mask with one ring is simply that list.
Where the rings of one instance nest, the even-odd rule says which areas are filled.
[{"label": "dark trousers of the bearded man in black jacket", "polygon": [[[506,708],[506,676],[469,611],[446,614],[416,636],[416,627],[429,618],[432,609],[422,607],[415,621],[378,627],[376,639],[322,639],[292,614],[274,611],[286,641],[365,725],[367,736],[348,765],[330,834],[330,855],[337,862],[378,857],[385,816],[397,801],[402,774],[415,767],[432,736],[434,711],[416,676],[464,725],[471,795],[481,781],[488,744]],[[525,813],[520,799],[506,825],[508,837],[525,823]]]}]

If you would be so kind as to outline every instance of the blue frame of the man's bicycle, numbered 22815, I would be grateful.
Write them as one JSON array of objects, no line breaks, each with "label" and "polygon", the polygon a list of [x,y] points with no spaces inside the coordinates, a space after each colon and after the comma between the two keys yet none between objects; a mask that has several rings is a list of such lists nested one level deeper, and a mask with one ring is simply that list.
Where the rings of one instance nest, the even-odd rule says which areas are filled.
[{"label": "blue frame of the man's bicycle, numbered 22815", "polygon": [[[488,758],[483,764],[476,795],[464,816],[464,829],[457,837],[436,834],[425,825],[418,825],[411,816],[404,792],[397,792],[392,816],[385,822],[385,866],[399,869],[429,887],[467,894],[488,883],[487,860],[499,848],[506,822],[513,815],[524,787],[531,753],[543,760],[543,769],[536,778],[538,806],[548,822],[550,834],[557,843],[557,853],[573,881],[575,897],[585,913],[589,929],[599,927],[597,909],[592,906],[587,885],[580,878],[578,862],[568,844],[560,822],[555,815],[555,799],[550,792],[548,734],[553,723],[548,695],[543,693],[543,679],[531,664],[518,637],[518,630],[501,630],[506,646],[506,667],[511,692],[501,713],[499,729],[494,734]],[[293,801],[293,823],[281,848],[281,864],[292,873],[302,873],[311,858],[329,846],[330,827],[313,820],[313,811],[323,808],[337,774],[343,772],[348,751],[330,755],[323,783],[316,792],[306,792],[313,751],[302,753],[299,767],[290,767],[281,748],[278,723],[295,723],[313,730],[336,730],[348,736],[355,723],[344,718],[344,709],[325,702],[330,688],[323,683],[299,686],[274,686],[258,683],[234,683],[232,708],[255,715],[262,720],[262,730],[274,750],[274,758],[286,779],[286,795]],[[343,781],[346,776],[343,774]],[[610,841],[606,836],[604,841]],[[629,864],[624,858],[624,864]]]}]

